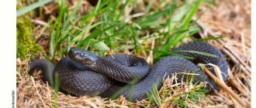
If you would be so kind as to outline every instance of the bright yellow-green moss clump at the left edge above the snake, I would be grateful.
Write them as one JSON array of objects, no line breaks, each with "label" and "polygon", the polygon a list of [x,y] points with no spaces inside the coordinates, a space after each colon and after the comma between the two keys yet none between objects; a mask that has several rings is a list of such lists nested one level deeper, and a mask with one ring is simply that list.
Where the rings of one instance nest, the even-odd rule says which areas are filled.
[{"label": "bright yellow-green moss clump at the left edge above the snake", "polygon": [[33,28],[32,22],[30,22],[29,19],[26,19],[26,16],[17,19],[17,58],[27,59],[28,56],[31,56],[33,59],[36,53],[43,51],[43,49],[32,39]]}]

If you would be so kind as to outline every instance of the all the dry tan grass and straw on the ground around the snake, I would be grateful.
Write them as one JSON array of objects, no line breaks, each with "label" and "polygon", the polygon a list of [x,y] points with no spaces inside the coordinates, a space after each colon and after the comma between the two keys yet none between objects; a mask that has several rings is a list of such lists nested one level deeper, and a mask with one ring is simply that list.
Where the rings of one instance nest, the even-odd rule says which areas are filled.
[{"label": "all the dry tan grass and straw on the ground around the snake", "polygon": [[[218,46],[227,56],[230,64],[230,74],[228,76],[227,85],[234,91],[244,103],[251,104],[251,1],[249,0],[234,0],[221,1],[216,0],[216,7],[211,7],[202,15],[198,25],[202,27],[203,32],[200,36],[216,36],[224,35],[226,38],[210,41],[212,44]],[[73,2],[75,4],[75,1]],[[88,2],[83,2],[80,13],[86,12],[90,8]],[[204,11],[206,7],[201,7]],[[50,13],[56,11],[54,5],[43,6],[48,14],[46,17],[56,19]],[[69,8],[71,9],[71,8]],[[139,8],[143,9],[143,8]],[[35,34],[38,36],[42,34],[47,35],[47,32],[40,32],[43,22],[46,18],[36,18],[33,20],[36,25]],[[43,46],[43,49],[48,50],[48,41],[41,40],[35,37],[37,42]],[[149,44],[154,47],[154,39],[149,40]],[[133,53],[126,51],[125,53]],[[147,62],[153,62],[153,54],[150,52],[149,56],[144,56]],[[141,100],[137,103],[127,102],[123,97],[118,100],[102,99],[101,97],[89,96],[66,96],[63,93],[55,93],[46,83],[40,79],[40,76],[29,76],[27,73],[27,64],[29,59],[21,61],[17,59],[17,106],[19,107],[140,107],[147,106],[147,100]],[[170,88],[170,79],[165,82],[166,86],[162,89]],[[161,93],[163,95],[163,93]],[[234,98],[225,92],[224,89],[207,95],[206,100],[202,103],[186,103],[190,107],[241,107]],[[57,101],[56,101],[57,100]],[[151,106],[157,107],[154,103]],[[173,103],[162,103],[161,107],[174,106]]]}]

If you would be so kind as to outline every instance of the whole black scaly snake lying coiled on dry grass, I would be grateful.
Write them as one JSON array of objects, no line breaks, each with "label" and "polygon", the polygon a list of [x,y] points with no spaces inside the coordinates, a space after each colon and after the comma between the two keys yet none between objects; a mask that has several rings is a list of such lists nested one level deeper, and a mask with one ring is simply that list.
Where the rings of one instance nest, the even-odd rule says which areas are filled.
[{"label": "whole black scaly snake lying coiled on dry grass", "polygon": [[[175,74],[177,83],[182,81],[182,73],[195,73],[192,83],[209,83],[210,86],[206,86],[209,92],[220,89],[220,86],[197,66],[198,63],[212,63],[218,66],[223,81],[227,80],[227,59],[216,46],[195,41],[186,42],[171,51],[179,52],[179,55],[163,56],[150,66],[143,58],[133,55],[113,54],[101,57],[85,49],[71,48],[56,66],[47,59],[33,60],[29,63],[29,72],[42,70],[43,80],[51,82],[50,86],[54,86],[53,82],[59,82],[61,90],[74,96],[124,96],[131,102],[147,98],[147,94],[151,93],[154,87],[161,89],[164,79]],[[184,56],[192,59],[186,59]],[[208,68],[216,76],[215,70],[210,66]],[[187,77],[183,78],[185,80]]]}]

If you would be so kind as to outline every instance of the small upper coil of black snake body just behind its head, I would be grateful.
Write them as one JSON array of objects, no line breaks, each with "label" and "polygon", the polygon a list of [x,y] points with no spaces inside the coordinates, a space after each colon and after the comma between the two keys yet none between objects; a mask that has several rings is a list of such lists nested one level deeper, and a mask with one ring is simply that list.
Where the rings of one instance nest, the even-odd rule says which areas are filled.
[{"label": "small upper coil of black snake body just behind its head", "polygon": [[144,59],[120,54],[113,56],[117,58],[116,62],[99,57],[95,66],[90,69],[123,83],[130,83],[136,78],[141,79],[149,73],[149,65]]}]

